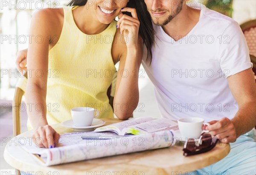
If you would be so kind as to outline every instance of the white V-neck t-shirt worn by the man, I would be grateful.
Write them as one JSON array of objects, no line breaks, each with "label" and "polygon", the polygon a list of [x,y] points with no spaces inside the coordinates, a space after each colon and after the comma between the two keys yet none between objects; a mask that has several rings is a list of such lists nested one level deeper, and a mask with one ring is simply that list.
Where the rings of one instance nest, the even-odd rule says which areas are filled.
[{"label": "white V-neck t-shirt worn by the man", "polygon": [[246,40],[230,17],[201,4],[193,8],[201,9],[199,22],[178,41],[153,24],[152,63],[144,47],[143,66],[164,118],[231,119],[238,105],[227,77],[252,67]]}]

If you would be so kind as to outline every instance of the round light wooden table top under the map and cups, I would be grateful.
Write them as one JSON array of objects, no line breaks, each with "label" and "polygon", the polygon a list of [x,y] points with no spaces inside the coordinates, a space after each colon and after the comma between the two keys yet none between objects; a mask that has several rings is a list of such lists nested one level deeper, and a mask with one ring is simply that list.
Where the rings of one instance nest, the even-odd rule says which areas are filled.
[{"label": "round light wooden table top under the map and cups", "polygon": [[[105,125],[119,122],[117,119],[103,119]],[[64,128],[60,124],[53,125],[60,134],[76,132],[73,129]],[[29,153],[17,144],[22,137],[30,137],[32,131],[24,132],[9,141],[4,151],[4,158],[8,164],[16,169],[29,172],[34,175],[167,175],[181,172],[189,172],[201,169],[220,161],[230,152],[230,145],[217,143],[209,152],[183,156],[183,144],[177,142],[175,146],[164,149],[148,150],[125,155],[117,155],[107,158],[80,161],[57,166],[41,166]]]}]

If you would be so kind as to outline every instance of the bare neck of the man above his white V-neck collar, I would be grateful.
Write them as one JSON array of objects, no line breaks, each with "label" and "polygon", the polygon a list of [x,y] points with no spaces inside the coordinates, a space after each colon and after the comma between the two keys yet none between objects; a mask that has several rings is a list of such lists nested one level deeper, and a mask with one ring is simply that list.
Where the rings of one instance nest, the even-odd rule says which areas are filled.
[{"label": "bare neck of the man above his white V-neck collar", "polygon": [[183,6],[183,9],[166,26],[164,32],[175,41],[185,37],[195,27],[200,18],[200,10]]}]

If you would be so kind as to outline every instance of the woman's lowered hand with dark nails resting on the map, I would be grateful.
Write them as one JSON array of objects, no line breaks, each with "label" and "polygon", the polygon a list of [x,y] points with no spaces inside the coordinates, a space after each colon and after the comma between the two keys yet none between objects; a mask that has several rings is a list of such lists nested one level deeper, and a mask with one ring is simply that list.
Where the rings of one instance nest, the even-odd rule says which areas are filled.
[{"label": "woman's lowered hand with dark nails resting on the map", "polygon": [[33,142],[38,147],[55,147],[58,144],[60,135],[49,125],[39,126],[32,135]]}]

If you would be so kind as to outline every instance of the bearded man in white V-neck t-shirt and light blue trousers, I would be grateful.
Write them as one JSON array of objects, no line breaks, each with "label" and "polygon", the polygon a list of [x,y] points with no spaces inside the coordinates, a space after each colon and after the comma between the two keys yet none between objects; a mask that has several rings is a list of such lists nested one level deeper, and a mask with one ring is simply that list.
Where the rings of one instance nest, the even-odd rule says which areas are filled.
[{"label": "bearded man in white V-neck t-shirt and light blue trousers", "polygon": [[[165,118],[201,117],[231,151],[195,173],[256,174],[256,87],[239,24],[204,5],[145,0],[155,30],[143,66]],[[143,55],[146,55],[143,54]]]}]

